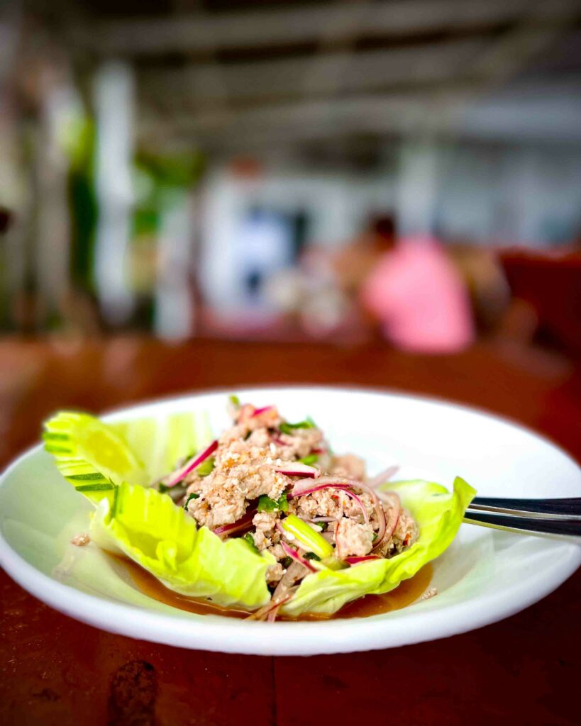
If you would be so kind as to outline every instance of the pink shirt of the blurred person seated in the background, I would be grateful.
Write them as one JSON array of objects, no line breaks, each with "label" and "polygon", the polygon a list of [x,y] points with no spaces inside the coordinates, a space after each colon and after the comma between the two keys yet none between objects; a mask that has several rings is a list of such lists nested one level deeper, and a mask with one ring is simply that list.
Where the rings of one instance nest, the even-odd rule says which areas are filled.
[{"label": "pink shirt of the blurred person seated in the background", "polygon": [[453,353],[474,340],[468,290],[432,237],[404,237],[379,259],[362,287],[362,304],[394,345]]}]

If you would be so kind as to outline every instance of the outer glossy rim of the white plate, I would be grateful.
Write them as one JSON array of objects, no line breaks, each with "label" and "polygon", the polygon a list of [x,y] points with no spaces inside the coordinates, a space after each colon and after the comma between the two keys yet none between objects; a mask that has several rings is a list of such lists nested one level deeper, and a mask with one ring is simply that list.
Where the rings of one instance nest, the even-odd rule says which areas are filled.
[{"label": "outer glossy rim of the white plate", "polygon": [[[541,436],[531,428],[514,422],[508,417],[487,412],[485,409],[456,404],[436,396],[392,392],[389,389],[365,386],[313,386],[270,384],[267,386],[230,386],[229,388],[199,389],[187,395],[164,396],[161,399],[142,401],[103,413],[103,417],[117,418],[136,409],[164,406],[178,401],[198,398],[224,391],[268,391],[277,389],[305,391],[337,391],[341,393],[368,393],[371,395],[397,396],[431,404],[441,404],[487,417],[521,429],[544,444],[549,444],[564,455],[578,469],[577,462],[560,446]],[[1,473],[0,486],[13,469],[23,460],[42,449],[37,444],[20,454]],[[463,525],[463,527],[468,525]],[[298,621],[263,623],[228,619],[221,616],[191,617],[190,613],[161,613],[147,611],[134,605],[113,603],[96,595],[76,590],[67,584],[37,570],[10,547],[0,531],[0,566],[25,590],[38,597],[57,611],[76,620],[118,635],[128,635],[137,640],[174,645],[179,648],[216,650],[222,653],[246,653],[264,656],[310,656],[328,653],[349,653],[361,650],[379,650],[400,645],[410,645],[426,640],[436,640],[458,635],[469,630],[502,620],[541,600],[563,583],[581,565],[581,546],[571,544],[569,551],[558,560],[550,571],[540,571],[519,579],[502,590],[482,592],[459,603],[423,614],[423,603],[414,608],[403,608],[395,619],[371,616],[362,619]]]}]

